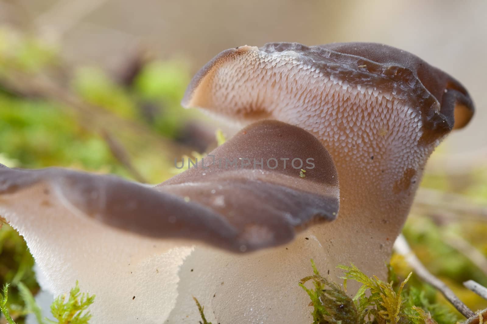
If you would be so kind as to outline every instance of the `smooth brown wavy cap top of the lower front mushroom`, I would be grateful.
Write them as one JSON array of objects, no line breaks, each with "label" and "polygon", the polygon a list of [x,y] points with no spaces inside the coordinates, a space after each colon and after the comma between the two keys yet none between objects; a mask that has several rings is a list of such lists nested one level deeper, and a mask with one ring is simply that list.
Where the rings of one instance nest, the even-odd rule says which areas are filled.
[{"label": "smooth brown wavy cap top of the lower front mushroom", "polygon": [[[44,197],[61,200],[76,214],[155,239],[189,239],[233,252],[249,252],[292,240],[314,222],[338,212],[338,178],[330,154],[311,134],[279,121],[253,124],[218,147],[197,167],[149,188],[110,175],[63,169],[0,168],[0,211],[9,194],[40,185]],[[227,161],[252,161],[227,165]],[[288,158],[270,168],[268,159]],[[315,167],[300,170],[292,159]],[[254,168],[262,159],[262,169]],[[219,163],[220,161],[220,163]],[[298,161],[299,162],[299,161]],[[305,168],[300,166],[300,168]],[[53,197],[54,196],[54,197]],[[33,197],[24,196],[31,200]],[[39,217],[48,208],[39,206]]]}]

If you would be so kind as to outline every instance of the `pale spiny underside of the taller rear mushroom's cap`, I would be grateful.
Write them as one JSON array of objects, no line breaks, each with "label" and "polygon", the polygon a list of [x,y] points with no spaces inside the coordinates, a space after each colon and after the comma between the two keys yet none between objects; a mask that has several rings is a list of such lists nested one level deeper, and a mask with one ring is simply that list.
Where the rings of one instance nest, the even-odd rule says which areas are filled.
[{"label": "pale spiny underside of the taller rear mushroom's cap", "polygon": [[412,107],[417,100],[404,89],[394,93],[363,85],[383,76],[365,73],[368,81],[363,81],[364,74],[355,84],[336,76],[352,79],[350,70],[331,66],[319,68],[296,51],[239,48],[213,62],[214,68],[184,103],[226,116],[269,117],[298,125],[324,141],[335,159],[353,160],[361,168],[369,168],[371,157],[403,156],[409,161],[388,171],[416,169],[415,157],[431,151],[418,145],[423,120],[421,110]]}]

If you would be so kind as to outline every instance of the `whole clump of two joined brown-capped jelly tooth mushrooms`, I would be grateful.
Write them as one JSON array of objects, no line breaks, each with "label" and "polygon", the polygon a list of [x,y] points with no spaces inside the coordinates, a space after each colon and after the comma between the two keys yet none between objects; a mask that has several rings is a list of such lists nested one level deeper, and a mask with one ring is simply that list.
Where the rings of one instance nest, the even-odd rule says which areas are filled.
[{"label": "whole clump of two joined brown-capped jelly tooth mushrooms", "polygon": [[351,262],[384,277],[428,156],[473,114],[449,75],[370,43],[227,50],[194,77],[183,105],[285,122],[250,125],[217,159],[316,166],[301,177],[289,164],[221,170],[208,159],[155,188],[0,169],[0,215],[24,235],[41,285],[59,294],[79,280],[97,295],[94,323],[193,324],[193,295],[214,323],[311,323],[298,286],[309,260],[334,279]]}]

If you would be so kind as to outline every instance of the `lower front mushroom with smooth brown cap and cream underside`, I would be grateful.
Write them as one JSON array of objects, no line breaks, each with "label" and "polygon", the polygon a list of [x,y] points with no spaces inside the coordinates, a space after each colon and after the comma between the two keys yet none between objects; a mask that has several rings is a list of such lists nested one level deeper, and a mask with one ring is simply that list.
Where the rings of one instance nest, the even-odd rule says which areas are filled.
[{"label": "lower front mushroom with smooth brown cap and cream underside", "polygon": [[[25,238],[44,290],[57,295],[79,280],[81,290],[96,294],[93,323],[196,323],[197,308],[188,301],[194,294],[212,309],[208,297],[224,287],[218,273],[228,260],[262,248],[268,255],[284,250],[296,233],[324,226],[338,213],[333,160],[299,127],[257,122],[210,154],[197,168],[152,188],[109,175],[0,165],[0,215]],[[290,165],[294,159],[304,177]],[[198,264],[193,258],[180,268],[194,246],[202,251],[196,258],[214,257]],[[241,271],[254,273],[257,282],[273,276],[272,269],[252,266]],[[302,274],[292,269],[278,279],[297,286]],[[279,302],[292,306],[292,297],[274,299],[272,306],[283,312],[287,307]],[[300,309],[308,312],[303,300]]]}]

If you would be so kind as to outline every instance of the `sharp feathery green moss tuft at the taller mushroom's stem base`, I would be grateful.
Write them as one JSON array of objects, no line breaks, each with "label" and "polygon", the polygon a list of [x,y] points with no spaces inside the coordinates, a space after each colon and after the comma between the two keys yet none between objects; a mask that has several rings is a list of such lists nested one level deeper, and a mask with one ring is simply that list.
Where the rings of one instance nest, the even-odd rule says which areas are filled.
[{"label": "sharp feathery green moss tuft at the taller mushroom's stem base", "polygon": [[[424,294],[415,289],[405,289],[412,273],[402,282],[391,269],[391,282],[385,282],[376,276],[368,277],[356,266],[339,266],[345,271],[343,287],[319,274],[311,260],[313,275],[302,278],[300,287],[306,291],[313,306],[313,324],[434,324],[431,310],[439,310],[429,304]],[[354,298],[346,294],[347,282],[354,280],[362,284]],[[313,282],[313,288],[305,286]],[[426,310],[425,310],[426,309]],[[448,313],[448,312],[447,312]],[[439,316],[440,312],[436,312]],[[443,314],[451,315],[451,313]],[[446,318],[445,318],[446,320]],[[456,318],[449,316],[447,323],[455,323]],[[443,322],[440,322],[443,323]]]}]

